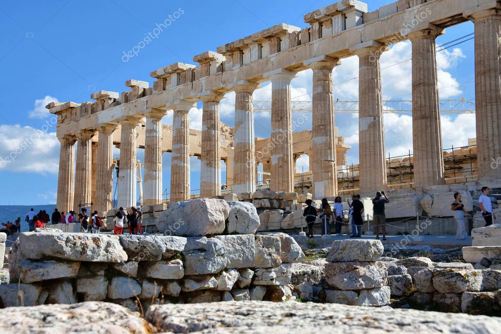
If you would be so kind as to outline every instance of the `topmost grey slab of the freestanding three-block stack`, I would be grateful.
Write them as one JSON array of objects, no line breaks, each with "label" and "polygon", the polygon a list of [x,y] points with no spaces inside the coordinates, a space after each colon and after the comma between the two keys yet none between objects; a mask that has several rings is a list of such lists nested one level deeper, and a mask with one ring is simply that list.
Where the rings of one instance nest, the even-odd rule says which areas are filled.
[{"label": "topmost grey slab of the freestanding three-block stack", "polygon": [[374,262],[383,255],[384,247],[380,240],[347,239],[336,240],[327,254],[327,262]]}]

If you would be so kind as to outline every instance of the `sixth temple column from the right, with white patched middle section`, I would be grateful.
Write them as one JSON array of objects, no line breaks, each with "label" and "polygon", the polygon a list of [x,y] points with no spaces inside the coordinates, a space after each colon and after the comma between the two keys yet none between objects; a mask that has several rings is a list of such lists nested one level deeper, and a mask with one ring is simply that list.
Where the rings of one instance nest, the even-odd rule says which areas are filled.
[{"label": "sixth temple column from the right, with white patched middle section", "polygon": [[[256,191],[256,145],[254,137],[253,93],[259,84],[241,81],[235,92],[233,192]],[[227,171],[226,171],[227,172]]]}]

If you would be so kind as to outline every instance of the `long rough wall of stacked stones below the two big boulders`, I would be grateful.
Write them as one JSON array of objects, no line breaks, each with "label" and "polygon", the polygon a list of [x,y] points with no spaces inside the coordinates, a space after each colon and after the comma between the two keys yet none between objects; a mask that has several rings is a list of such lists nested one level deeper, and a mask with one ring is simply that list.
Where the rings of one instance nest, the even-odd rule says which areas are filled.
[{"label": "long rough wall of stacked stones below the two big boulders", "polygon": [[39,229],[19,236],[0,305],[109,301],[281,301],[304,254],[286,235],[105,235]]}]

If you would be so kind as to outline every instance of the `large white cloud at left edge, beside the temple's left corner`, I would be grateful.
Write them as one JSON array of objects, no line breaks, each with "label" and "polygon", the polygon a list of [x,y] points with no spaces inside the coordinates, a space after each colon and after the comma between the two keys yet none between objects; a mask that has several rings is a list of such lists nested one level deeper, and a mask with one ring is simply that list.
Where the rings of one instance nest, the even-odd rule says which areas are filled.
[{"label": "large white cloud at left edge, beside the temple's left corner", "polygon": [[0,170],[57,174],[58,168],[59,141],[55,132],[0,125]]}]

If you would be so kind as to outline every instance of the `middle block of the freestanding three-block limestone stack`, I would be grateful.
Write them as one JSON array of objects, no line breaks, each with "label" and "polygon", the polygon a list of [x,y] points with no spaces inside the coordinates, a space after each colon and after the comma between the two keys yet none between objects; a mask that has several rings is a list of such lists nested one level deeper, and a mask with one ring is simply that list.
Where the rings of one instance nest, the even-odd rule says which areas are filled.
[{"label": "middle block of the freestanding three-block limestone stack", "polygon": [[340,290],[372,289],[386,285],[388,272],[380,262],[327,263],[324,276],[327,283]]}]

